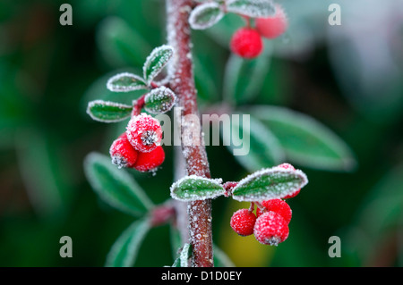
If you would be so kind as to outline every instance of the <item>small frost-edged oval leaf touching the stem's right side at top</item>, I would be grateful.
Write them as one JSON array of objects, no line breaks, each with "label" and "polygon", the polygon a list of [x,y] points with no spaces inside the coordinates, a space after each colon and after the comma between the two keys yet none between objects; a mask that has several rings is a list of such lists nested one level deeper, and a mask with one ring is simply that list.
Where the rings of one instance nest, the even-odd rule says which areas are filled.
[{"label": "small frost-edged oval leaf touching the stem's right side at top", "polygon": [[189,16],[192,29],[208,29],[224,17],[220,5],[214,2],[200,4],[193,9]]}]

